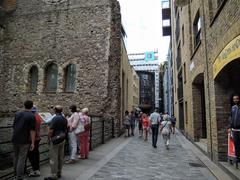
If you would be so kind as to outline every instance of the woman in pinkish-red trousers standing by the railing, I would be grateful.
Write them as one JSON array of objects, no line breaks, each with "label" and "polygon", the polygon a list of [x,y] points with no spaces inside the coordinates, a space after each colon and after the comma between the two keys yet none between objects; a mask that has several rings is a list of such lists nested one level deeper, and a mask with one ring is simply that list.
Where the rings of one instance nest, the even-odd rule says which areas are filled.
[{"label": "woman in pinkish-red trousers standing by the railing", "polygon": [[90,138],[90,128],[91,119],[88,116],[88,108],[83,108],[82,112],[79,113],[80,122],[84,126],[84,131],[78,135],[80,142],[80,157],[81,159],[88,159],[89,154],[89,138]]}]

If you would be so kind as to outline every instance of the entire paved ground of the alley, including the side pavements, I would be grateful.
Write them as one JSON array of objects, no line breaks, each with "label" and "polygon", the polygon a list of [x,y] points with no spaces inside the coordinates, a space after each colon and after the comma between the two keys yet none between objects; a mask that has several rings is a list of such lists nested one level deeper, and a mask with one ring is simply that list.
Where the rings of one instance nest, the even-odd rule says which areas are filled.
[{"label": "entire paved ground of the alley, including the side pavements", "polygon": [[[91,151],[89,159],[64,165],[61,180],[230,180],[181,133],[167,150],[159,136],[157,149],[138,136],[114,138]],[[204,163],[202,163],[204,162]],[[49,164],[41,167],[42,180]]]}]

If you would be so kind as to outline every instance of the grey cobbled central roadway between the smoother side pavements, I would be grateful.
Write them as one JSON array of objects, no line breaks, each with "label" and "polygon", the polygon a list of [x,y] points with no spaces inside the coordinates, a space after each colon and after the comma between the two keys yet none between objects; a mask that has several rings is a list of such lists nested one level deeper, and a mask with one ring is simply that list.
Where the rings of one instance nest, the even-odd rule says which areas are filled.
[{"label": "grey cobbled central roadway between the smoother side pavements", "polygon": [[172,136],[170,150],[163,139],[154,149],[151,142],[141,138],[132,140],[91,180],[155,180],[155,179],[216,179],[189,150],[182,147],[176,135]]}]

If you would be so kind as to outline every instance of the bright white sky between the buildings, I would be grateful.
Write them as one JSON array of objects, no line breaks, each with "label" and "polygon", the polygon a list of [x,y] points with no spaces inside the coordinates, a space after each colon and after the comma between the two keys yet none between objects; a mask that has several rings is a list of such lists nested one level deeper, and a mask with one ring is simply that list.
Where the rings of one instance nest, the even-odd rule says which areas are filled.
[{"label": "bright white sky between the buildings", "polygon": [[127,34],[127,52],[158,49],[160,62],[166,60],[170,37],[162,36],[161,0],[118,0]]}]

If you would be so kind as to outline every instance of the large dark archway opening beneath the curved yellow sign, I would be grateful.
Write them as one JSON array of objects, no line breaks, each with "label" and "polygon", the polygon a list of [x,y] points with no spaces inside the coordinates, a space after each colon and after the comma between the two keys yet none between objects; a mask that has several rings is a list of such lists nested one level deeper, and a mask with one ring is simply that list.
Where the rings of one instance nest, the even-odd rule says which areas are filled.
[{"label": "large dark archway opening beneath the curved yellow sign", "polygon": [[216,76],[215,106],[219,160],[227,155],[227,133],[229,115],[232,106],[232,95],[240,93],[240,59],[228,63]]}]

